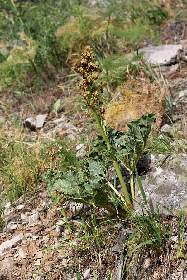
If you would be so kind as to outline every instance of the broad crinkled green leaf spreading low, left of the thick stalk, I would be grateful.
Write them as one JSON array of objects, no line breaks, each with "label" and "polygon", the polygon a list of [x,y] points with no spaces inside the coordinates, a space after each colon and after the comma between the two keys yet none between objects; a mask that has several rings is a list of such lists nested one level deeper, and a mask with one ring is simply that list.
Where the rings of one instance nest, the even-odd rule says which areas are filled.
[{"label": "broad crinkled green leaf spreading low, left of the thick stalk", "polygon": [[88,205],[103,207],[107,203],[106,176],[98,162],[91,163],[88,172],[80,169],[68,171],[55,179],[52,179],[47,187],[54,204],[58,202],[61,194],[72,201]]}]

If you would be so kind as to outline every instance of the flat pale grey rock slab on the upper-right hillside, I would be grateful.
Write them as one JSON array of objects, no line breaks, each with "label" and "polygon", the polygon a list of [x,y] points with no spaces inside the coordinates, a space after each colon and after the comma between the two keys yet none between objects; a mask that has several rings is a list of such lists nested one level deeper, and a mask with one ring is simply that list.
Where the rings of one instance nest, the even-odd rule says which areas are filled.
[{"label": "flat pale grey rock slab on the upper-right hillside", "polygon": [[182,45],[150,46],[139,49],[138,52],[146,52],[143,57],[153,65],[165,65],[169,64],[171,59],[175,58],[177,52],[182,48]]}]

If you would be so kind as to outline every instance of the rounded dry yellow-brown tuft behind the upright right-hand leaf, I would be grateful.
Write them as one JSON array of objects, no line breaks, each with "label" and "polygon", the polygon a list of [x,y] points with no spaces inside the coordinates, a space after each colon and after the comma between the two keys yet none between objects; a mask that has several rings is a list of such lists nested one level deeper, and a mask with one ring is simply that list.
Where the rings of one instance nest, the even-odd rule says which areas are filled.
[{"label": "rounded dry yellow-brown tuft behind the upright right-hand leaf", "polygon": [[128,80],[118,91],[106,111],[107,126],[126,132],[130,120],[149,113],[157,114],[156,126],[161,126],[167,89],[159,81]]}]

